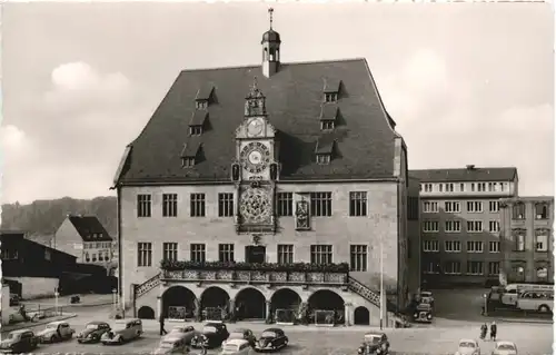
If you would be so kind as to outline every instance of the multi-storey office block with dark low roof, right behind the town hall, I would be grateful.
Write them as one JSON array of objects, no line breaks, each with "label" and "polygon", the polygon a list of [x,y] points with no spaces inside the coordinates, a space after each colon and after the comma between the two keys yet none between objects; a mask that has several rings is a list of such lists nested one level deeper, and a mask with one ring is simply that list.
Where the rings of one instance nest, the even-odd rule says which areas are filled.
[{"label": "multi-storey office block with dark low roof, right behind the town hall", "polygon": [[434,285],[498,282],[499,199],[517,196],[516,168],[410,170],[420,181],[423,277]]}]

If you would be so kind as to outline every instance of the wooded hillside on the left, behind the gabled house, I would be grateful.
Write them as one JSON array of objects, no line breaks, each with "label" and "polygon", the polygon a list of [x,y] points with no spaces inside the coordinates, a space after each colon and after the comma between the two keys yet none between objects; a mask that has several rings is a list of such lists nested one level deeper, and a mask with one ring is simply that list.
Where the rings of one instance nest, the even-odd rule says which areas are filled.
[{"label": "wooded hillside on the left, behind the gabled house", "polygon": [[[97,216],[116,237],[116,197],[96,197],[93,199],[73,199],[63,197],[53,200],[36,200],[29,205],[2,205],[2,229],[16,229],[29,233],[31,239],[44,241],[52,236],[67,215]],[[43,240],[40,240],[43,239]]]}]

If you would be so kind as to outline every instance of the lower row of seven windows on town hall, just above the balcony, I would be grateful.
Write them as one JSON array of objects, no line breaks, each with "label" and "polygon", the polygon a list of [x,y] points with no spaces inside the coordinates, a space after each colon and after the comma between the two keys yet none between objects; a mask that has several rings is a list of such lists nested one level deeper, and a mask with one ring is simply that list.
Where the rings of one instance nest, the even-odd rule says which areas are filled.
[{"label": "lower row of seven windows on town hall, just above the balcony", "polygon": [[[178,260],[178,243],[162,243],[161,259]],[[291,244],[278,244],[276,246],[276,254],[278,256],[278,264],[294,264],[306,260],[295,259],[295,247]],[[327,244],[318,244],[310,246],[310,263],[317,265],[332,264],[332,246]],[[196,263],[205,263],[207,260],[207,245],[206,244],[190,244],[189,245],[189,260]],[[366,272],[368,260],[368,246],[356,245],[349,246],[349,265],[353,272]],[[218,262],[234,263],[235,245],[234,244],[219,244],[218,245]],[[137,266],[151,267],[152,266],[152,243],[138,243],[137,244]]]}]

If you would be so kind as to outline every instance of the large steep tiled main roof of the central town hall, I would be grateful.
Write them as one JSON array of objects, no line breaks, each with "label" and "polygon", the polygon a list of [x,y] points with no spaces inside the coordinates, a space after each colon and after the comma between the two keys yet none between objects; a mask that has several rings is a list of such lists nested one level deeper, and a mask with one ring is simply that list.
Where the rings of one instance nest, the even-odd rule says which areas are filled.
[{"label": "large steep tiled main roof of the central town hall", "polygon": [[[281,63],[266,78],[260,66],[183,70],[121,164],[120,184],[226,181],[236,158],[236,128],[244,121],[245,97],[257,77],[266,97],[269,121],[277,129],[281,180],[391,178],[394,140],[399,137],[365,59]],[[338,102],[342,124],[331,132],[340,152],[318,165],[315,146],[322,135],[319,120],[325,83],[341,82]],[[210,125],[189,136],[200,88],[214,87]],[[203,159],[182,169],[183,145],[200,139]]]}]

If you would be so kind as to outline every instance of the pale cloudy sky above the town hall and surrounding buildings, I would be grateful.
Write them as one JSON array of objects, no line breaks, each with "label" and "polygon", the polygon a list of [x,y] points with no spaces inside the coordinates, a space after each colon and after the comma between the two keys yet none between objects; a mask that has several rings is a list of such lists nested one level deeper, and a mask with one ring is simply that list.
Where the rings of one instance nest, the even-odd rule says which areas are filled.
[{"label": "pale cloudy sky above the town hall and surrounding buildings", "polygon": [[[515,166],[554,195],[549,3],[274,3],[281,60],[365,57],[410,169]],[[109,190],[182,69],[254,65],[266,3],[4,3],[2,201]]]}]

